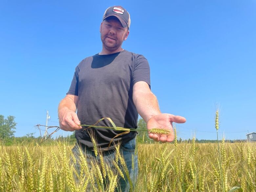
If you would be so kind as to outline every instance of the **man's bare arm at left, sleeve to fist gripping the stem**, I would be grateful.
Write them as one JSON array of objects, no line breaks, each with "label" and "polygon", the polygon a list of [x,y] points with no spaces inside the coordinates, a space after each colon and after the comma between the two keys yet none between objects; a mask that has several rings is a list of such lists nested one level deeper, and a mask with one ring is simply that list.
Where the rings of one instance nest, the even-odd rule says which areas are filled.
[{"label": "man's bare arm at left, sleeve to fist gripping the stem", "polygon": [[82,127],[80,121],[76,115],[78,96],[67,94],[67,96],[62,99],[58,107],[58,117],[60,128],[64,131],[75,131]]}]

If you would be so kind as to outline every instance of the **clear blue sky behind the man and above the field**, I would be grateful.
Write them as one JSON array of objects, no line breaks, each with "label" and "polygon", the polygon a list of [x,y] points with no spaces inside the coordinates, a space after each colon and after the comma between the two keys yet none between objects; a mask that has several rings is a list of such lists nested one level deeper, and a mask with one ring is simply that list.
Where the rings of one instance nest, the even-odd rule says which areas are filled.
[{"label": "clear blue sky behind the man and above the field", "polygon": [[15,136],[39,136],[34,125],[45,124],[47,110],[48,125],[58,125],[58,103],[76,65],[101,51],[99,26],[113,5],[131,15],[123,48],[148,59],[160,110],[186,117],[179,137],[216,139],[217,107],[226,139],[256,132],[255,1],[4,0],[0,114],[16,117]]}]

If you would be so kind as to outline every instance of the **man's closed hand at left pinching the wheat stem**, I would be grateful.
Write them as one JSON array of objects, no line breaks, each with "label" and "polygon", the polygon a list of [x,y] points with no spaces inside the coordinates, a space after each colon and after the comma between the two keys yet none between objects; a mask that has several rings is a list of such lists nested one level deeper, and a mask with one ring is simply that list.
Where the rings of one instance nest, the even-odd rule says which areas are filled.
[{"label": "man's closed hand at left pinching the wheat stem", "polygon": [[82,127],[76,113],[68,108],[59,111],[59,125],[64,131],[75,131]]}]

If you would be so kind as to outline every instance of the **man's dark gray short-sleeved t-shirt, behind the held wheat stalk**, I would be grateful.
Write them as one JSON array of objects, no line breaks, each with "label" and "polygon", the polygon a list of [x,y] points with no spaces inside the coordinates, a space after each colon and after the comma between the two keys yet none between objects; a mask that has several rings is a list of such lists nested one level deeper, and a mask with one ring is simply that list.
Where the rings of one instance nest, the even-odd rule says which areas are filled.
[{"label": "man's dark gray short-sleeved t-shirt, behind the held wheat stalk", "polygon": [[[147,59],[140,54],[123,50],[118,53],[83,59],[75,68],[75,74],[67,94],[78,96],[77,116],[81,124],[93,125],[102,117],[110,117],[117,127],[137,128],[138,112],[133,103],[133,85],[145,81],[150,87],[150,69]],[[112,127],[104,119],[98,126]],[[88,129],[75,131],[77,141],[92,149]],[[106,150],[112,138],[122,131],[89,128],[94,131],[98,146]],[[125,143],[136,136],[130,132],[116,137],[114,142]]]}]

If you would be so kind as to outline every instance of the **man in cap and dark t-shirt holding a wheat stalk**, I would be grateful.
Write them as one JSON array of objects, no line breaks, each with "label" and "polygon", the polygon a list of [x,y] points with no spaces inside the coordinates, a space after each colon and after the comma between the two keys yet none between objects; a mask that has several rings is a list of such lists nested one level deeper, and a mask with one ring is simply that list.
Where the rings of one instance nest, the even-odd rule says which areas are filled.
[{"label": "man in cap and dark t-shirt holding a wheat stalk", "polygon": [[[157,98],[150,90],[150,71],[146,58],[122,49],[121,45],[129,35],[130,23],[130,14],[121,6],[113,6],[105,11],[100,24],[102,50],[77,65],[67,96],[59,104],[60,128],[65,131],[75,130],[77,142],[87,153],[93,154],[93,144],[85,127],[79,125],[93,125],[102,117],[110,117],[118,127],[136,129],[139,113],[147,122],[148,130],[164,128],[172,133],[172,122],[186,121],[184,117],[160,112]],[[107,120],[100,121],[98,125],[112,126]],[[97,145],[103,154],[109,155],[114,143],[121,143],[120,150],[130,176],[136,181],[136,133],[130,132],[113,139],[119,133],[122,132],[94,129]],[[149,132],[149,137],[155,141],[172,142],[174,134]],[[108,147],[111,139],[113,142]],[[134,157],[136,174],[132,174],[131,157]],[[123,191],[129,191],[129,182],[120,181],[120,185]]]}]

